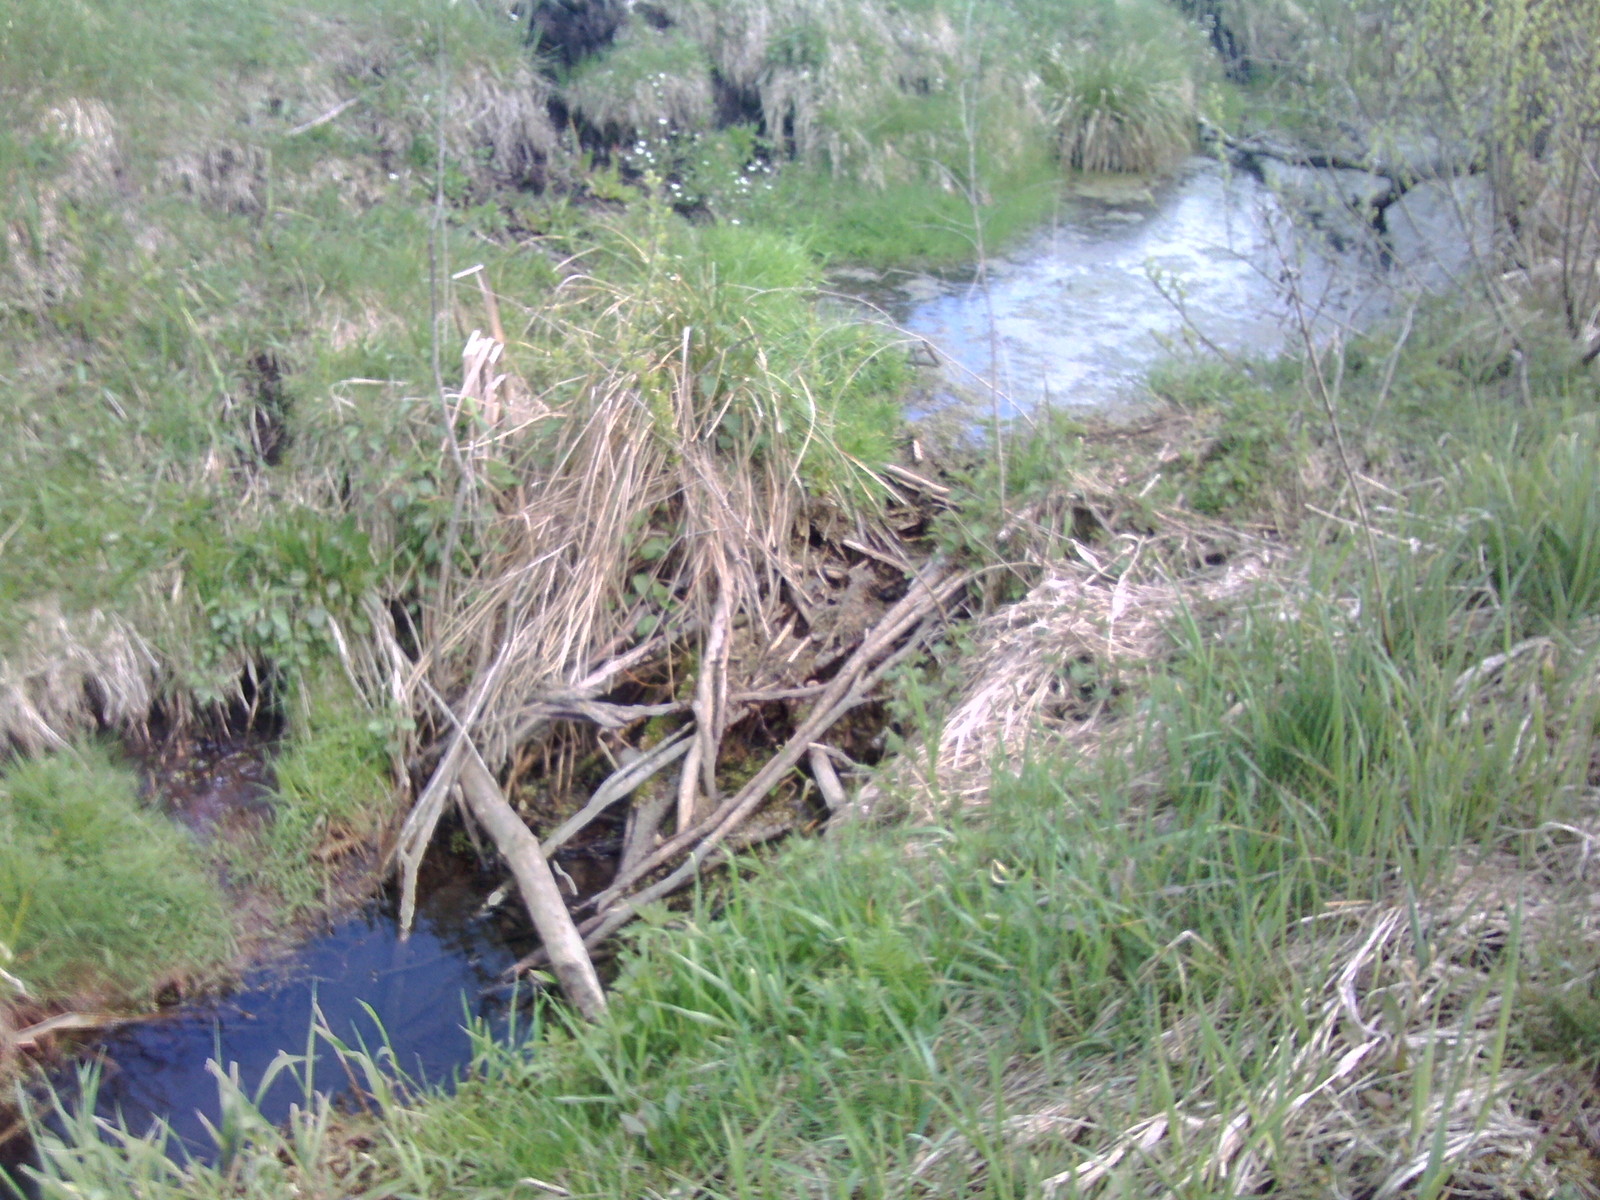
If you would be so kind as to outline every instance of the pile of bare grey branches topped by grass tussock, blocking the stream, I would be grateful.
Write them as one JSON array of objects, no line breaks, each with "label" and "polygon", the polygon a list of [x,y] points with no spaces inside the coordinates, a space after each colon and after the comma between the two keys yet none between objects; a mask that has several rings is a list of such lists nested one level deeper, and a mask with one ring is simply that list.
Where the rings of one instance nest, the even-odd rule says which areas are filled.
[{"label": "pile of bare grey branches topped by grass tussock, blocking the stream", "polygon": [[[715,286],[574,274],[510,339],[517,371],[485,290],[493,336],[467,346],[443,446],[462,480],[446,562],[470,544],[470,566],[443,574],[414,630],[374,608],[355,664],[418,725],[392,851],[402,920],[454,806],[510,867],[539,962],[590,1018],[605,997],[589,950],[640,906],[808,819],[787,803],[754,822],[776,794],[814,795],[821,818],[845,805],[854,760],[837,731],[970,582],[907,549],[942,490],[843,451],[794,346],[784,358],[755,317],[707,312],[696,298]],[[533,774],[566,794],[544,813],[554,827],[518,811]],[[616,874],[573,912],[550,858],[597,822],[624,830]]]}]

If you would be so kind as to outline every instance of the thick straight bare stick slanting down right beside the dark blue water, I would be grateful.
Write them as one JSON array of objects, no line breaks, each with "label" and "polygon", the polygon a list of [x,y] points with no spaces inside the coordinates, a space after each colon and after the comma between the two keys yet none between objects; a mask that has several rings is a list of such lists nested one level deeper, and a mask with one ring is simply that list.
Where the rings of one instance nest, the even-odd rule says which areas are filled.
[{"label": "thick straight bare stick slanting down right beside the dark blue water", "polygon": [[[462,739],[466,741],[466,739]],[[605,1013],[605,992],[595,974],[589,950],[584,949],[578,928],[573,925],[550,864],[544,861],[536,838],[506,802],[499,784],[483,765],[475,747],[467,742],[461,762],[461,794],[472,816],[483,826],[499,850],[506,866],[517,880],[517,891],[528,909],[533,928],[544,942],[550,968],[573,1006],[587,1019],[597,1021]]]}]

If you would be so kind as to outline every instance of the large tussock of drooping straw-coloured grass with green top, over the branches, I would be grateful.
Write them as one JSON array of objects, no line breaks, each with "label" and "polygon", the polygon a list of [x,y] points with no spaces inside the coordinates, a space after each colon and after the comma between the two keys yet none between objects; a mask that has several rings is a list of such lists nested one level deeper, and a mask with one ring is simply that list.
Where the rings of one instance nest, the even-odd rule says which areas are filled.
[{"label": "large tussock of drooping straw-coloured grass with green top, over the branches", "polygon": [[[875,536],[883,488],[838,432],[859,421],[851,400],[874,402],[862,381],[888,347],[819,322],[794,248],[666,226],[642,238],[525,310],[509,363],[496,338],[469,342],[467,384],[448,397],[467,434],[440,453],[464,472],[456,534],[493,552],[430,597],[419,662],[379,654],[379,686],[432,728],[469,731],[496,773],[542,754],[563,797],[574,757],[650,750],[648,718],[693,709],[682,834],[718,800],[736,694],[794,686],[816,659],[794,637],[818,619],[800,614],[811,531]],[[490,296],[491,326],[510,309]],[[450,746],[402,830],[406,878],[442,811]]]}]

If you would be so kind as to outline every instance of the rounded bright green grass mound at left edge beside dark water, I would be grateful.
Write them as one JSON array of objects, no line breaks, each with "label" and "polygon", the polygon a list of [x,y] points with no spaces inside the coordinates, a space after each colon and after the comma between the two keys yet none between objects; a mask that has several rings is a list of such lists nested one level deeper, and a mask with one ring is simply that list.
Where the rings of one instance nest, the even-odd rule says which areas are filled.
[{"label": "rounded bright green grass mound at left edge beside dark water", "polygon": [[0,944],[35,1003],[141,1003],[221,965],[234,930],[205,851],[78,747],[0,773]]}]

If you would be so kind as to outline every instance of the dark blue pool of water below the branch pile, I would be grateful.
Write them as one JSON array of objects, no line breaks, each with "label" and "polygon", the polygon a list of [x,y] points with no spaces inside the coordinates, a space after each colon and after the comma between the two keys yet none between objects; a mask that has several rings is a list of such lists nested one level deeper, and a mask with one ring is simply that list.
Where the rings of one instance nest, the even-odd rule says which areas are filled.
[{"label": "dark blue pool of water below the branch pile", "polygon": [[[394,1064],[411,1078],[448,1083],[470,1058],[469,1019],[506,1035],[514,995],[501,973],[531,949],[514,915],[480,915],[496,882],[470,864],[440,861],[422,880],[408,939],[400,938],[394,902],[379,901],[309,939],[288,966],[254,971],[227,995],[106,1034],[88,1051],[101,1074],[96,1112],[134,1133],[165,1120],[174,1152],[208,1160],[205,1120],[219,1115],[208,1062],[237,1064],[251,1093],[280,1053],[306,1051],[318,1013],[350,1045],[387,1042]],[[50,1080],[69,1104],[80,1069]],[[326,1048],[317,1078],[334,1091],[346,1083]],[[282,1075],[262,1110],[283,1120],[296,1102],[304,1102],[299,1083]],[[14,1144],[6,1154],[14,1170],[27,1147]],[[0,1171],[5,1166],[0,1160]]]}]

